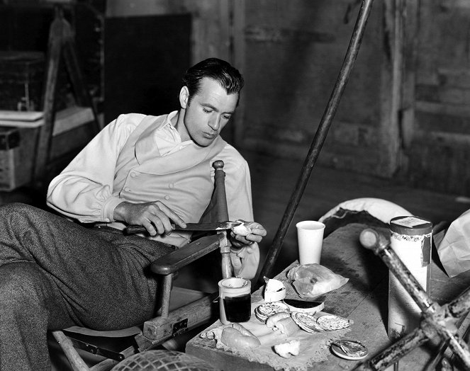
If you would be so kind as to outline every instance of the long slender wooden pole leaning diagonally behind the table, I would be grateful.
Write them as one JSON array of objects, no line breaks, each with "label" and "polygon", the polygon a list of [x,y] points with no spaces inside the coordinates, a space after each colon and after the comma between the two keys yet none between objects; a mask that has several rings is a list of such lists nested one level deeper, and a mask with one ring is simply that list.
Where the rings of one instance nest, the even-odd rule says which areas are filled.
[{"label": "long slender wooden pole leaning diagonally behind the table", "polygon": [[259,274],[258,281],[260,284],[262,284],[262,278],[264,276],[269,277],[271,274],[272,267],[274,266],[274,263],[279,256],[279,251],[281,251],[281,246],[284,241],[284,237],[286,236],[287,229],[289,229],[293,215],[296,212],[298,203],[300,202],[303,191],[306,188],[308,178],[310,178],[310,173],[312,172],[313,166],[318,159],[318,154],[320,154],[320,150],[323,147],[323,142],[325,142],[328,129],[330,128],[331,122],[335,117],[337,107],[340,103],[340,98],[342,93],[345,91],[349,74],[351,73],[354,62],[356,61],[357,53],[359,52],[362,36],[364,35],[364,28],[366,27],[367,18],[369,18],[373,1],[374,0],[362,1],[362,5],[357,16],[357,21],[352,32],[352,38],[349,42],[349,47],[347,48],[345,60],[342,63],[340,74],[337,77],[335,87],[333,88],[330,96],[330,100],[328,101],[328,105],[325,108],[320,125],[318,125],[317,132],[315,133],[313,142],[310,145],[310,150],[308,151],[307,157],[303,163],[301,174],[298,177],[298,181],[286,207],[284,216],[282,217],[279,229],[276,232],[276,236],[274,236],[272,246],[267,253],[264,266],[261,270],[261,273]]}]

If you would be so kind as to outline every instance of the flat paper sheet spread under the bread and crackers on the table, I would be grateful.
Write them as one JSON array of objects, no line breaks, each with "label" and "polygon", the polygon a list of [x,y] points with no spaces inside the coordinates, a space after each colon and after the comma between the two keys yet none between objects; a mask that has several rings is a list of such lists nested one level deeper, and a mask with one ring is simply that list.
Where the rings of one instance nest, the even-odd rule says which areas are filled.
[{"label": "flat paper sheet spread under the bread and crackers on the table", "polygon": [[[293,335],[286,336],[281,333],[281,331],[273,331],[254,316],[254,309],[262,303],[263,302],[252,303],[252,317],[250,321],[241,324],[245,329],[250,330],[259,338],[261,346],[250,349],[235,349],[225,346],[220,342],[220,334],[223,328],[228,325],[223,325],[220,321],[217,321],[213,327],[211,326],[211,329],[208,329],[208,331],[213,331],[212,336],[214,336],[214,341],[218,341],[217,347],[230,350],[252,362],[270,365],[275,370],[303,371],[307,370],[308,367],[312,366],[314,363],[327,360],[328,355],[331,354],[330,344],[332,341],[344,337],[347,332],[351,331],[348,328],[337,331],[308,333],[299,328]],[[211,338],[211,336],[206,335],[201,337]],[[291,356],[290,358],[282,358],[274,352],[274,346],[276,344],[286,343],[294,339],[298,339],[301,343],[299,355]]]}]

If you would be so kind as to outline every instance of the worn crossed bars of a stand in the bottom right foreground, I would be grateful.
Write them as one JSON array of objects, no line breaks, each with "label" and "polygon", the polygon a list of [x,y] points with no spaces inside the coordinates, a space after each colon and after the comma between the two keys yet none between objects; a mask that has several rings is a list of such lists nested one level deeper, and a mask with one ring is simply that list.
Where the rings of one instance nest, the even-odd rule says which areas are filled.
[{"label": "worn crossed bars of a stand in the bottom right foreground", "polygon": [[457,334],[457,323],[470,310],[470,288],[457,299],[440,306],[427,296],[425,290],[391,249],[390,242],[384,235],[374,229],[364,229],[361,242],[364,247],[374,251],[384,261],[391,273],[418,304],[423,316],[418,329],[393,343],[379,355],[359,365],[356,370],[384,370],[411,350],[436,338],[447,343],[454,354],[459,357],[465,369],[470,370],[469,348]]}]

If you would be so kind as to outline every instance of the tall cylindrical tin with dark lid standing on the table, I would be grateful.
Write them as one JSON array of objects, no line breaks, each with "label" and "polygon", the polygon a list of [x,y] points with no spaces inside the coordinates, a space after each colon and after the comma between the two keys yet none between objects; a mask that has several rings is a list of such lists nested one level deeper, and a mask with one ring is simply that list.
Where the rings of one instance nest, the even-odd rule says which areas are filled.
[{"label": "tall cylindrical tin with dark lid standing on the table", "polygon": [[[391,249],[403,261],[423,290],[430,294],[432,223],[421,217],[394,217],[390,221]],[[393,274],[388,278],[388,338],[396,340],[420,323],[421,309]]]}]

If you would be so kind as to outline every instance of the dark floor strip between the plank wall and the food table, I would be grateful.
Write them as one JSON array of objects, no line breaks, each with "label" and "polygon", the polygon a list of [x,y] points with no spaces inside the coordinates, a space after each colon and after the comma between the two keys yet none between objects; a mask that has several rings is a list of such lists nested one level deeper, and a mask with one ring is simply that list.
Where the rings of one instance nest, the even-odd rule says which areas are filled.
[{"label": "dark floor strip between the plank wall and the food table", "polygon": [[[268,231],[267,238],[260,246],[264,258],[286,211],[303,161],[275,159],[252,152],[244,153],[244,156],[250,164],[252,176],[254,217]],[[460,195],[408,188],[390,179],[315,166],[286,234],[274,273],[279,273],[289,262],[298,258],[296,222],[317,220],[340,202],[354,198],[383,198],[433,223],[450,222],[470,209],[470,199]]]}]

